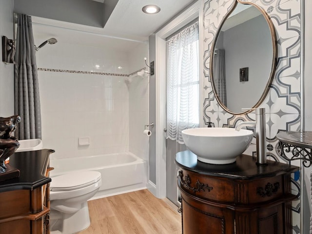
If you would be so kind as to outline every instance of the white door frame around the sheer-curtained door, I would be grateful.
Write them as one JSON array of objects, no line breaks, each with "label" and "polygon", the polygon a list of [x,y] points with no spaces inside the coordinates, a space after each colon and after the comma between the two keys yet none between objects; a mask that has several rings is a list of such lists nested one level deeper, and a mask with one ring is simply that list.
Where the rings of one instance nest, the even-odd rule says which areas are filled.
[{"label": "white door frame around the sheer-curtained door", "polygon": [[[156,197],[166,197],[166,38],[199,16],[201,0],[156,33]],[[202,25],[199,19],[199,25]],[[200,42],[199,42],[200,44]],[[201,47],[199,45],[199,51]],[[199,53],[201,55],[201,53]],[[201,58],[201,57],[200,57]],[[200,62],[199,62],[200,63]],[[199,71],[202,71],[199,66]],[[201,100],[201,99],[200,99]],[[201,101],[200,101],[201,103]],[[200,109],[200,113],[202,110]]]}]

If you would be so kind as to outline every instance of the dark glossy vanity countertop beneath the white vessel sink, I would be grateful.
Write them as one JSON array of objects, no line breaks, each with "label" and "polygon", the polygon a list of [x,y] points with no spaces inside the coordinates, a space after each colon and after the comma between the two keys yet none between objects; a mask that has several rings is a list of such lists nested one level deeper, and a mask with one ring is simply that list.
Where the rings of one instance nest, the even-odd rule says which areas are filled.
[{"label": "dark glossy vanity countertop beneath the white vessel sink", "polygon": [[256,158],[248,155],[237,156],[236,162],[231,164],[209,164],[197,160],[197,156],[191,151],[182,151],[176,154],[176,164],[201,175],[216,176],[231,179],[255,179],[292,173],[299,167],[290,166],[285,163],[268,160],[268,165],[257,165]]}]

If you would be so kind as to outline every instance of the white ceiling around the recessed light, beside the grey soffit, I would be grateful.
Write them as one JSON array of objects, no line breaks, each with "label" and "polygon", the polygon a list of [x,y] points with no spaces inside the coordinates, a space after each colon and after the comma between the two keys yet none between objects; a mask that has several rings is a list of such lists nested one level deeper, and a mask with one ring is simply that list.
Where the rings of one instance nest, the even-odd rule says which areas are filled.
[{"label": "white ceiling around the recessed light, beside the grey soffit", "polygon": [[[109,0],[104,0],[104,3],[107,1]],[[146,43],[151,34],[193,2],[194,0],[118,0],[104,28],[32,16],[35,43],[54,37],[59,41],[109,45],[129,50],[137,43]],[[160,12],[155,15],[143,13],[142,7],[147,4],[158,5]]]}]

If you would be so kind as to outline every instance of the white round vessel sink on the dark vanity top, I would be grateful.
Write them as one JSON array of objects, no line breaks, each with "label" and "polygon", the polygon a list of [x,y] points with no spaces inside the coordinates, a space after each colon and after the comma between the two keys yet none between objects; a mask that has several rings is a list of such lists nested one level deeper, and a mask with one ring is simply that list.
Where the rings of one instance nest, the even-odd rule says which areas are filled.
[{"label": "white round vessel sink on the dark vanity top", "polygon": [[253,137],[253,131],[236,131],[234,128],[191,128],[182,131],[185,145],[197,159],[212,164],[235,162]]}]

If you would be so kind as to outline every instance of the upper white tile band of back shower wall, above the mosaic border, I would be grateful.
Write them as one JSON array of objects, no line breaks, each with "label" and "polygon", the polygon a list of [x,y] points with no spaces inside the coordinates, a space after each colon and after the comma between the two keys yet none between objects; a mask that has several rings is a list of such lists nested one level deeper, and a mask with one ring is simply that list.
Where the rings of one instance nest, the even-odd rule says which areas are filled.
[{"label": "upper white tile band of back shower wall, above the mosaic border", "polygon": [[[36,37],[35,34],[34,37]],[[92,40],[91,37],[90,40]],[[35,43],[37,42],[35,41]],[[99,48],[58,41],[54,45],[42,47],[36,53],[36,57],[39,68],[117,74],[131,72],[127,53],[111,50],[109,46]],[[118,69],[119,66],[122,69]]]}]

